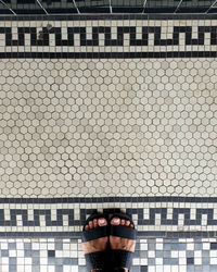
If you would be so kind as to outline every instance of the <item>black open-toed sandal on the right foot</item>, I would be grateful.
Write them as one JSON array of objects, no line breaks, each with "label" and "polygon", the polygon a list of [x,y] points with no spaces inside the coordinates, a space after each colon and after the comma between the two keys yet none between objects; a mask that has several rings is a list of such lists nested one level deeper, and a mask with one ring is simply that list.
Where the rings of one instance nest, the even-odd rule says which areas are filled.
[{"label": "black open-toed sandal on the right foot", "polygon": [[[110,219],[110,235],[136,240],[137,230],[131,228],[131,227],[126,227],[123,225],[112,225],[111,221],[114,218],[119,218],[120,220],[122,219],[129,220],[130,224],[135,226],[130,215],[126,213],[122,213],[122,212],[115,213]],[[111,249],[111,258],[112,258],[111,262],[113,263],[114,268],[119,268],[119,269],[127,268],[129,270],[132,264],[132,256],[133,256],[133,252],[130,252],[130,251]]]}]

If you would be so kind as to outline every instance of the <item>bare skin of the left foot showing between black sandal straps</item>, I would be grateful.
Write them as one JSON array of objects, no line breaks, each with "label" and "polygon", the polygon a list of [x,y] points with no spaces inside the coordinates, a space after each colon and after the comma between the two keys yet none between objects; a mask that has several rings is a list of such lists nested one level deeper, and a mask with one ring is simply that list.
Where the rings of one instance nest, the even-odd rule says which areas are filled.
[{"label": "bare skin of the left foot showing between black sandal straps", "polygon": [[[107,221],[104,218],[100,218],[100,219],[93,219],[92,221],[89,221],[89,224],[85,226],[85,231],[94,228],[94,227],[100,227],[100,226],[104,226],[107,225]],[[106,246],[107,246],[107,240],[108,237],[101,237],[99,239],[93,239],[93,240],[89,240],[89,242],[85,242],[82,243],[82,250],[86,254],[92,254],[92,252],[98,252],[98,251],[104,251]],[[91,272],[94,271],[101,271],[99,270],[91,270]]]}]

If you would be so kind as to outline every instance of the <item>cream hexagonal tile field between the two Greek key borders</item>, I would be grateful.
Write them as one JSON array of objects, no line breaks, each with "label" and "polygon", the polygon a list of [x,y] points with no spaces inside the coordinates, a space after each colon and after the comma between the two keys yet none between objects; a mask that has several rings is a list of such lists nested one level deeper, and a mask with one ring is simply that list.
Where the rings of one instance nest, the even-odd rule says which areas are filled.
[{"label": "cream hexagonal tile field between the two Greek key borders", "polygon": [[[213,59],[2,60],[1,197],[104,199],[92,200],[95,209],[110,197],[125,197],[127,209],[141,197],[213,197],[216,66]],[[168,199],[152,207],[181,208]],[[201,212],[190,199],[180,213],[190,207]]]}]

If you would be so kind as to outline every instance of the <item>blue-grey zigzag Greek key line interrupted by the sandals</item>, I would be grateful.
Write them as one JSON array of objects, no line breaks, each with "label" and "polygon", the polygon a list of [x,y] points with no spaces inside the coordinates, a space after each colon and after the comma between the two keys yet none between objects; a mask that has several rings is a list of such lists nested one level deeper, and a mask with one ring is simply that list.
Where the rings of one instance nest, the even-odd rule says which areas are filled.
[{"label": "blue-grey zigzag Greek key line interrupted by the sandals", "polygon": [[[173,219],[167,219],[166,208],[150,208],[150,219],[143,218],[143,209],[130,209],[133,214],[137,214],[138,225],[155,225],[156,214],[161,215],[162,225],[178,225],[179,215],[183,214],[183,225],[201,225],[202,217],[207,215],[207,225],[217,225],[217,220],[214,220],[214,209],[196,209],[196,219],[191,220],[191,209],[173,209]],[[34,220],[28,220],[28,210],[11,209],[11,220],[4,219],[4,210],[0,210],[0,226],[16,226],[17,215],[22,218],[23,226],[40,226],[40,215],[44,215],[47,226],[63,226],[63,215],[67,215],[68,226],[79,225],[85,220],[86,210],[80,209],[80,219],[75,220],[74,209],[56,209],[56,220],[51,219],[51,210],[48,209],[34,209]]]}]

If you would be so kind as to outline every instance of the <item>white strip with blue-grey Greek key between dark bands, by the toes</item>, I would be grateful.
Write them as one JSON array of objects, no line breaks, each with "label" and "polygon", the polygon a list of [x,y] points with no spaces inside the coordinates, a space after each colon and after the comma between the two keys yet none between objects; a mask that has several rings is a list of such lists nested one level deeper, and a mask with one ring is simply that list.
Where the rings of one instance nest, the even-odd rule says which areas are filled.
[{"label": "white strip with blue-grey Greek key between dark bands, by the toes", "polygon": [[[131,203],[132,208],[122,209],[128,214],[132,214],[132,220],[139,233],[143,232],[217,232],[216,211],[217,205],[215,202],[162,202],[161,208],[154,202],[140,202],[140,208],[133,208],[138,205]],[[155,208],[153,208],[155,205]],[[177,205],[179,208],[176,208]],[[91,208],[87,209],[87,202],[56,202],[56,203],[36,203],[26,205],[21,203],[20,209],[10,208],[11,205],[1,203],[0,209],[0,232],[1,236],[7,233],[27,234],[33,232],[41,232],[41,235],[49,236],[56,232],[74,232],[79,234],[86,219],[92,212],[100,211],[108,215],[118,208],[102,208],[102,203],[91,203]],[[62,206],[62,208],[60,208]],[[99,207],[98,207],[99,206]],[[201,208],[196,208],[200,206]],[[34,208],[36,207],[36,208]],[[105,203],[106,207],[106,203]],[[130,206],[129,206],[130,207]],[[143,207],[143,208],[141,208]]]}]

